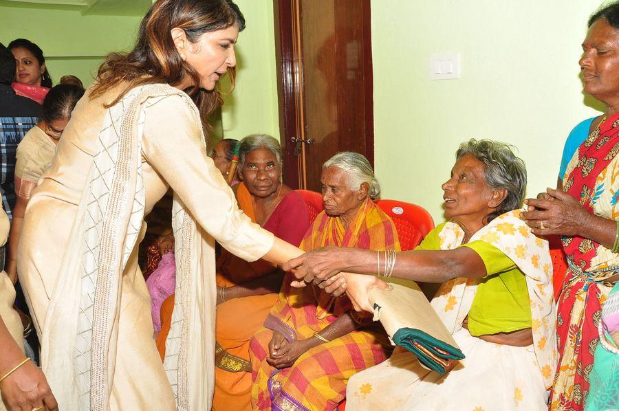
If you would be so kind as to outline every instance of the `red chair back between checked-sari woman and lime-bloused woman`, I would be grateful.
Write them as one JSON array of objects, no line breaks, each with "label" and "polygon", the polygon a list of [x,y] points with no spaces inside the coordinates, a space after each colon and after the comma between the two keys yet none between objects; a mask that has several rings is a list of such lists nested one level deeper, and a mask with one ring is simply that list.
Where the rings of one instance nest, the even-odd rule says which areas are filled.
[{"label": "red chair back between checked-sari woman and lime-bloused woman", "polygon": [[402,251],[417,247],[434,228],[430,213],[416,204],[398,200],[378,200],[377,204],[393,220]]}]

